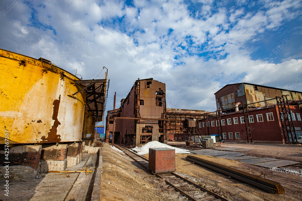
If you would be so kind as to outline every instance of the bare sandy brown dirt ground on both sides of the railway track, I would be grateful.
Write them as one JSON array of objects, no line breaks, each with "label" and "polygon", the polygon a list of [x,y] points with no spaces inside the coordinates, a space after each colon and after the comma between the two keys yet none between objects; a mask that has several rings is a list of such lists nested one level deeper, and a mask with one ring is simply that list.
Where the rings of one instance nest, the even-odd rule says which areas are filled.
[{"label": "bare sandy brown dirt ground on both sides of the railway track", "polygon": [[[182,145],[184,142],[173,142],[174,145]],[[169,145],[172,145],[169,143]],[[239,144],[223,143],[223,147],[250,148],[249,155],[261,157],[274,157],[299,161],[302,156],[302,146],[269,145],[269,144]],[[253,147],[255,146],[255,147]],[[134,162],[124,153],[105,144],[103,152],[103,171],[101,176],[101,200],[186,200],[175,190],[171,189],[164,181],[154,175],[143,171],[137,162]],[[193,154],[192,154],[193,155]],[[301,200],[302,177],[272,171],[243,162],[227,160],[212,156],[194,155],[202,159],[210,160],[222,165],[227,165],[255,175],[265,174],[266,179],[279,182],[284,194],[271,194],[262,191],[249,184],[212,171],[200,165],[193,165],[185,159],[186,154],[176,154],[176,173],[188,180],[226,197],[229,200]],[[148,154],[145,155],[148,158]],[[300,158],[301,159],[301,158]],[[302,162],[302,160],[300,160]],[[299,166],[287,166],[289,168],[302,169]]]}]

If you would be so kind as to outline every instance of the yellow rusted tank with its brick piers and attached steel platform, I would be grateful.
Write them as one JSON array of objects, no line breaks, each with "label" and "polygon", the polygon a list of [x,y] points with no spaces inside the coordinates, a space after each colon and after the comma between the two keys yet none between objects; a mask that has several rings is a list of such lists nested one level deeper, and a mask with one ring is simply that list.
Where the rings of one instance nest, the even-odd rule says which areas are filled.
[{"label": "yellow rusted tank with its brick piers and attached steel platform", "polygon": [[[103,120],[107,73],[105,79],[82,80],[44,58],[2,49],[0,73],[5,78],[0,86],[0,146],[9,147],[10,179],[76,166],[82,150],[93,146],[95,122]],[[4,154],[0,152],[1,159]]]}]

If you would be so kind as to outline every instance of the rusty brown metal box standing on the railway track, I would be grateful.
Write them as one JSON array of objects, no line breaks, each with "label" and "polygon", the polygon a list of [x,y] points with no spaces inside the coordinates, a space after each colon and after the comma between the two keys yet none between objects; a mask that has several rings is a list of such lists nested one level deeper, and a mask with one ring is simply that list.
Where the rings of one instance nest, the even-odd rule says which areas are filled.
[{"label": "rusty brown metal box standing on the railway track", "polygon": [[175,149],[149,148],[149,169],[153,173],[174,172]]}]

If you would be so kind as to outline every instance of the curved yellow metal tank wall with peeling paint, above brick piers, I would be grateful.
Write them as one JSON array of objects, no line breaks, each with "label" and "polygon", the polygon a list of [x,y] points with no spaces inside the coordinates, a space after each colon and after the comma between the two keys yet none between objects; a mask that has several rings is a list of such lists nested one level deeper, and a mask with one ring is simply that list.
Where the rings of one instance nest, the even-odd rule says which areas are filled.
[{"label": "curved yellow metal tank wall with peeling paint, above brick piers", "polygon": [[[0,49],[0,143],[82,139],[85,91],[45,59]],[[8,133],[8,134],[6,134]]]}]

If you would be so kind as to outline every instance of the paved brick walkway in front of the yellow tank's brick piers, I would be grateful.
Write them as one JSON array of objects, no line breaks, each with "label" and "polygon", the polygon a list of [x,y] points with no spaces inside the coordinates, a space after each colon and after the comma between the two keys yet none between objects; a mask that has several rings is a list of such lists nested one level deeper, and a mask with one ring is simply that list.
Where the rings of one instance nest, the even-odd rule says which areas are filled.
[{"label": "paved brick walkway in front of the yellow tank's brick piers", "polygon": [[[97,154],[83,153],[82,161],[75,167],[69,167],[66,170],[79,170],[88,165],[90,170],[94,170],[97,161]],[[89,157],[89,159],[88,159]],[[88,161],[87,161],[88,159]],[[88,189],[92,189],[91,184],[94,172],[85,175],[82,173],[43,173],[40,178],[31,180],[19,180],[9,182],[9,197],[0,196],[0,200],[9,201],[41,201],[41,200],[85,200]],[[3,187],[4,181],[0,182]],[[70,192],[69,192],[70,191]]]}]

